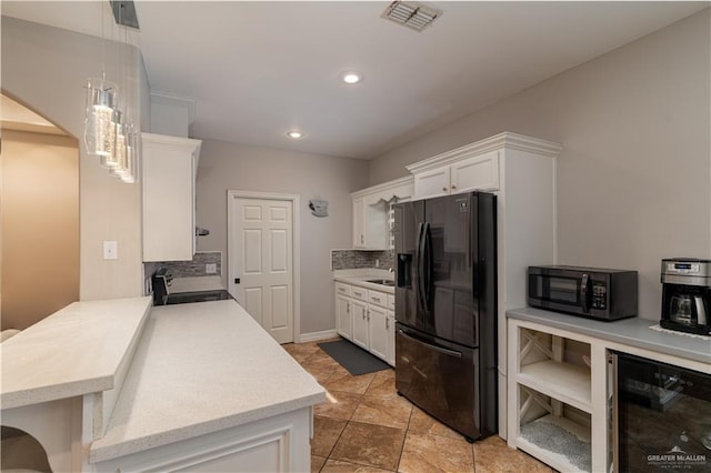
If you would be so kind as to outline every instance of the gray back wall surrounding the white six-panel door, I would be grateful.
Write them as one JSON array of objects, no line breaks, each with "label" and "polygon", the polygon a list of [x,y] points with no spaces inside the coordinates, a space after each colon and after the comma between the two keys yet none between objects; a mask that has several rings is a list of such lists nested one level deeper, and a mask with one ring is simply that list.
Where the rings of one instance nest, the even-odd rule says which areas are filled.
[{"label": "gray back wall surrounding the white six-panel door", "polygon": [[[199,250],[222,251],[227,286],[227,191],[299,194],[301,199],[301,333],[336,326],[332,248],[352,245],[349,193],[368,187],[368,162],[270,148],[204,140],[198,167],[197,224],[210,230]],[[329,217],[317,218],[310,199],[329,201]]]}]

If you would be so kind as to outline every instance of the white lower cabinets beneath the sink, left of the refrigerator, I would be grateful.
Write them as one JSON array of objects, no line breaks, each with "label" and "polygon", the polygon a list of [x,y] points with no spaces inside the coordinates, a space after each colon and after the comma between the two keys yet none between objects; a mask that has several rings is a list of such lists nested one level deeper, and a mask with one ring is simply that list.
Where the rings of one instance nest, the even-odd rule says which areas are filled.
[{"label": "white lower cabinets beneath the sink, left of the refrigerator", "polygon": [[394,296],[360,285],[336,283],[336,330],[394,366]]}]

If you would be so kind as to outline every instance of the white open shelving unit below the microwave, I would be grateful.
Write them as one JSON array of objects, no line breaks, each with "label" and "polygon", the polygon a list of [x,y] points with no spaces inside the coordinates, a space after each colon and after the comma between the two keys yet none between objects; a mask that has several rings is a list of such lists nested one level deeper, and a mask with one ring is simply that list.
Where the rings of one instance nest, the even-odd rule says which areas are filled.
[{"label": "white open shelving unit below the microwave", "polygon": [[509,446],[558,471],[607,471],[605,373],[595,339],[509,320]]}]

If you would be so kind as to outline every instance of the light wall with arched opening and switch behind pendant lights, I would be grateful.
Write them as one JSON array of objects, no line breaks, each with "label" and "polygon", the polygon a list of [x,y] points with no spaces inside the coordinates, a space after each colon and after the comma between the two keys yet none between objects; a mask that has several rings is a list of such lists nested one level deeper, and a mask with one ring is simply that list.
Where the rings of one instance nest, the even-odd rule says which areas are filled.
[{"label": "light wall with arched opening and switch behind pendant lights", "polygon": [[[106,41],[107,79],[118,82],[129,114],[148,117],[148,79],[140,52]],[[121,62],[118,62],[120,58]],[[2,90],[79,139],[80,299],[142,293],[140,184],[109,175],[83,147],[84,84],[101,77],[102,41],[2,17]],[[122,80],[126,78],[126,80]],[[146,119],[150,123],[150,118]],[[103,241],[118,241],[118,260],[104,261]]]}]

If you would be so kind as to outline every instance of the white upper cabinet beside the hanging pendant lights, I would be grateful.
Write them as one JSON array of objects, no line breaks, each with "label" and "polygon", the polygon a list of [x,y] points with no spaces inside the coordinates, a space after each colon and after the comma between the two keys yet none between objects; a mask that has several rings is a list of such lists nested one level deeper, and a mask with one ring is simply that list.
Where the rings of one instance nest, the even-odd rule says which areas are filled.
[{"label": "white upper cabinet beside the hanging pendant lights", "polygon": [[142,133],[143,261],[196,253],[196,175],[202,141]]}]

